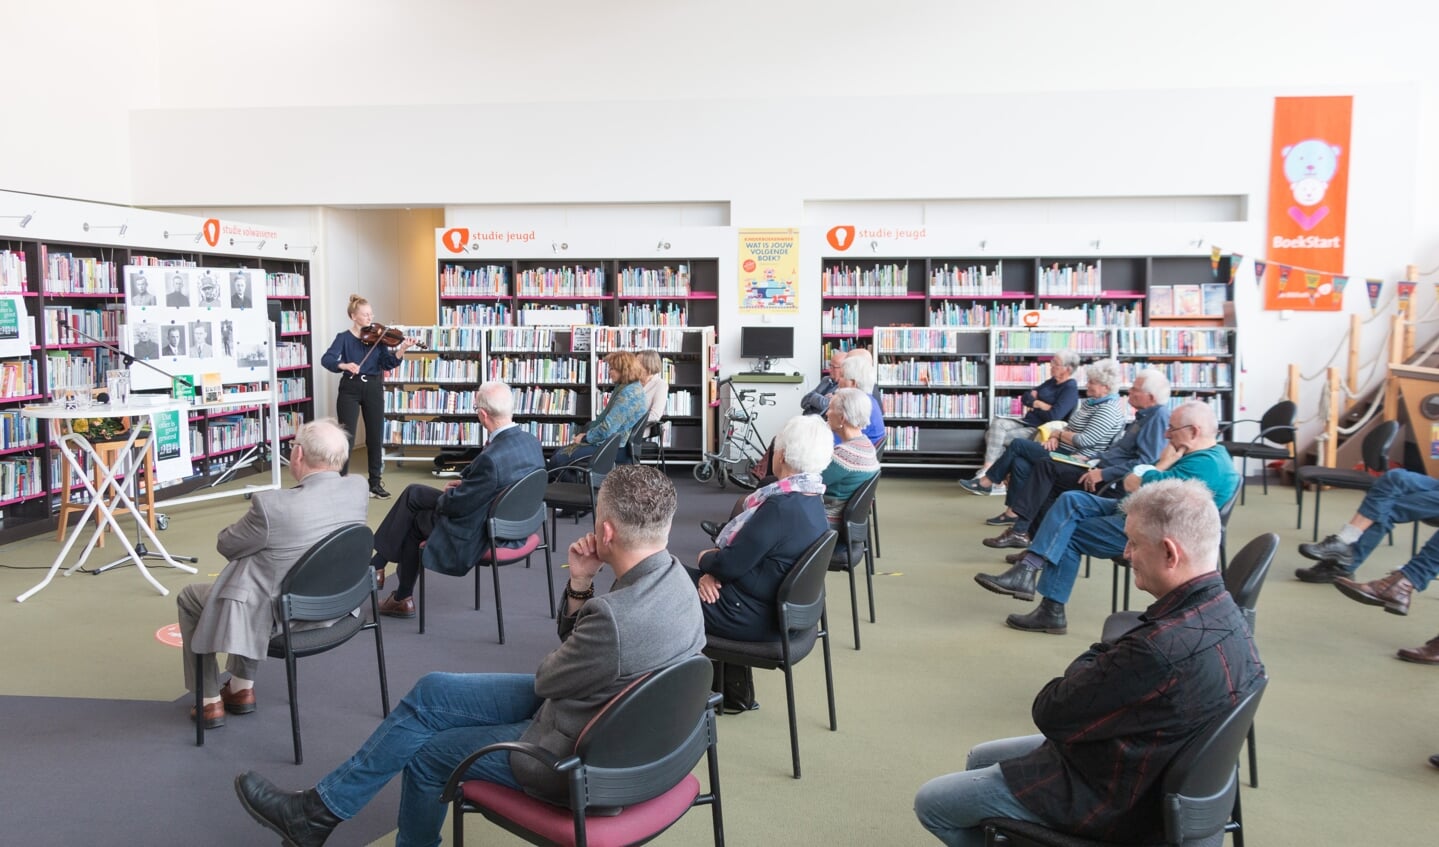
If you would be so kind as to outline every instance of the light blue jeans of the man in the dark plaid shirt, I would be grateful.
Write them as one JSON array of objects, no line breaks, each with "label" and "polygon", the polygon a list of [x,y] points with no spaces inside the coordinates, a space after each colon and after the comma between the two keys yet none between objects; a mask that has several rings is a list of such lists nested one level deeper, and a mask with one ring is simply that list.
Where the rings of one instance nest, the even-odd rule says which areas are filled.
[{"label": "light blue jeans of the man in the dark plaid shirt", "polygon": [[984,818],[1045,821],[1025,808],[1004,782],[999,762],[1022,756],[1045,742],[1043,735],[987,741],[970,751],[964,771],[935,777],[914,795],[914,814],[925,830],[950,847],[983,847]]}]

